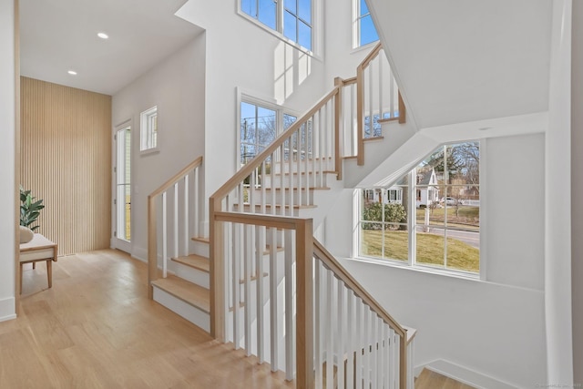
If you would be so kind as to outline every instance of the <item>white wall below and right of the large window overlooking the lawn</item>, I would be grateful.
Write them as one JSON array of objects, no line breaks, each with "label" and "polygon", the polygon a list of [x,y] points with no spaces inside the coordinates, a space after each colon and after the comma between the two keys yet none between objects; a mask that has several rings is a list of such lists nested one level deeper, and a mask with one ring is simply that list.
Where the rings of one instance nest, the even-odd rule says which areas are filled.
[{"label": "white wall below and right of the large window overlooking the lawn", "polygon": [[[483,140],[486,282],[343,261],[388,312],[418,330],[416,365],[445,359],[518,387],[547,383],[544,137]],[[332,209],[348,209],[352,199],[347,189]],[[339,211],[327,217],[334,254],[350,252],[349,219]]]}]

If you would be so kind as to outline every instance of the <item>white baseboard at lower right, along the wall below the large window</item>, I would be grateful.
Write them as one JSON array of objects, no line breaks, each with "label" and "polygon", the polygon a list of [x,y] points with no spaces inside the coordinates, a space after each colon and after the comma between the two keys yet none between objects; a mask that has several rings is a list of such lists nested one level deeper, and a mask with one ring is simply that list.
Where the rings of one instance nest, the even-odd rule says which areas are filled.
[{"label": "white baseboard at lower right, along the wall below the large window", "polygon": [[476,372],[475,370],[468,369],[464,366],[443,359],[437,359],[427,364],[415,366],[415,377],[418,377],[424,368],[445,375],[446,377],[453,378],[460,383],[474,386],[477,389],[517,389],[517,386],[515,385],[507,384],[492,376]]}]

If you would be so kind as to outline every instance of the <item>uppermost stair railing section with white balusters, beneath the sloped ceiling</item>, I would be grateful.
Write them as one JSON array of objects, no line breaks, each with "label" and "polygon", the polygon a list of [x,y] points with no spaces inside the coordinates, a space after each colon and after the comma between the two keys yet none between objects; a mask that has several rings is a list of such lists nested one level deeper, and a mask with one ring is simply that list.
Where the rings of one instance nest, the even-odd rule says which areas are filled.
[{"label": "uppermost stair railing section with white balusters, beneath the sloped ceiling", "polygon": [[381,123],[405,122],[403,97],[379,42],[356,68],[356,114],[358,116],[357,163],[364,164],[364,139],[380,137]]}]

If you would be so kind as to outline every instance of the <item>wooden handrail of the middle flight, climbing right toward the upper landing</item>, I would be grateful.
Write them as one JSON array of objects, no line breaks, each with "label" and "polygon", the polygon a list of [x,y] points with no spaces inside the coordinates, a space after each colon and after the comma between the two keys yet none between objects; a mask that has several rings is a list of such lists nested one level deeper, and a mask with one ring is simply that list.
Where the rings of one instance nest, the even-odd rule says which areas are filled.
[{"label": "wooden handrail of the middle flight, climbing right toward the upper landing", "polygon": [[235,173],[233,177],[231,177],[219,189],[217,189],[212,194],[212,196],[210,196],[210,198],[214,200],[224,199],[232,189],[235,189],[235,187],[240,184],[240,182],[243,179],[249,177],[253,170],[257,169],[261,165],[261,163],[263,163],[263,160],[267,159],[271,155],[271,153],[277,150],[277,148],[279,148],[283,144],[283,142],[287,140],[287,138],[290,138],[290,136],[295,131],[301,128],[310,118],[312,118],[312,116],[316,112],[318,112],[318,110],[320,110],[320,108],[322,108],[332,97],[336,96],[339,92],[340,87],[338,86],[334,87],[330,93],[322,97],[322,99],[314,107],[312,107],[312,109],[310,109],[306,114],[304,114],[302,118],[296,120],[290,128],[286,129],[277,138],[275,138],[271,142],[270,146],[264,148],[263,151],[261,151],[261,153],[255,156],[255,158],[247,162],[245,166],[242,167],[237,173]]}]

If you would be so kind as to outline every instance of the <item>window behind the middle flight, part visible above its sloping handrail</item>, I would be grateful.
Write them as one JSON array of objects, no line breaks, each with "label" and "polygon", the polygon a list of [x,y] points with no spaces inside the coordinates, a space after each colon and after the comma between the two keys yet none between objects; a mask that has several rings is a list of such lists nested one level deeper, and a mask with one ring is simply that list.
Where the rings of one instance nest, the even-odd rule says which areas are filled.
[{"label": "window behind the middle flight, part visible above its sloping handrail", "polygon": [[254,102],[240,103],[240,164],[244,165],[271,144],[296,117],[281,107]]}]

